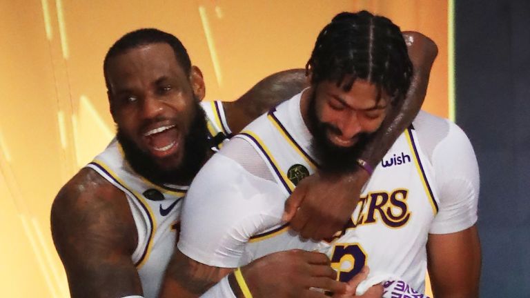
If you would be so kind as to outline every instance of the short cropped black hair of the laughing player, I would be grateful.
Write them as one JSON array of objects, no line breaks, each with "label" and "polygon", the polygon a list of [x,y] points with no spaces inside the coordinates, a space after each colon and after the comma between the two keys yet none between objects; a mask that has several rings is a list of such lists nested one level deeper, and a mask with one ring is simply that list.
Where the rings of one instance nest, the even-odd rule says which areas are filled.
[{"label": "short cropped black hair of the laughing player", "polygon": [[128,32],[108,49],[103,62],[103,74],[105,76],[107,90],[110,90],[107,77],[107,68],[110,59],[112,57],[118,56],[119,54],[124,54],[130,49],[137,48],[139,46],[146,46],[152,43],[167,43],[171,48],[173,48],[173,52],[175,52],[175,58],[177,58],[177,61],[184,70],[184,73],[186,75],[190,74],[190,56],[188,55],[186,48],[184,48],[180,40],[175,37],[175,35],[155,28],[143,28],[133,32]]}]

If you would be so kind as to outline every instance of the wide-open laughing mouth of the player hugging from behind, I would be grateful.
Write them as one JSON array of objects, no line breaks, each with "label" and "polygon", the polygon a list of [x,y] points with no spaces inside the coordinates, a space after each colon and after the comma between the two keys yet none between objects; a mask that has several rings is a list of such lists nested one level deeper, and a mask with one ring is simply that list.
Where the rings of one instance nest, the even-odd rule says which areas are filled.
[{"label": "wide-open laughing mouth of the player hugging from behind", "polygon": [[157,157],[171,155],[179,147],[180,133],[175,125],[153,128],[144,132],[144,137],[151,154]]}]

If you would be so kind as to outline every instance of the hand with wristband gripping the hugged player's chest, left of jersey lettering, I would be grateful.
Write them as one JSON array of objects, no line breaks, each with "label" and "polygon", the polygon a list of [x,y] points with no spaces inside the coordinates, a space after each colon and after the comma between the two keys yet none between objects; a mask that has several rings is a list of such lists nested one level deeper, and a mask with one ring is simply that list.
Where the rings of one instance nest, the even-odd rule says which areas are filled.
[{"label": "hand with wristband gripping the hugged player's chest, left of jersey lettering", "polygon": [[282,219],[304,238],[332,237],[350,219],[368,179],[362,169],[340,175],[316,172],[300,181],[288,197]]}]

